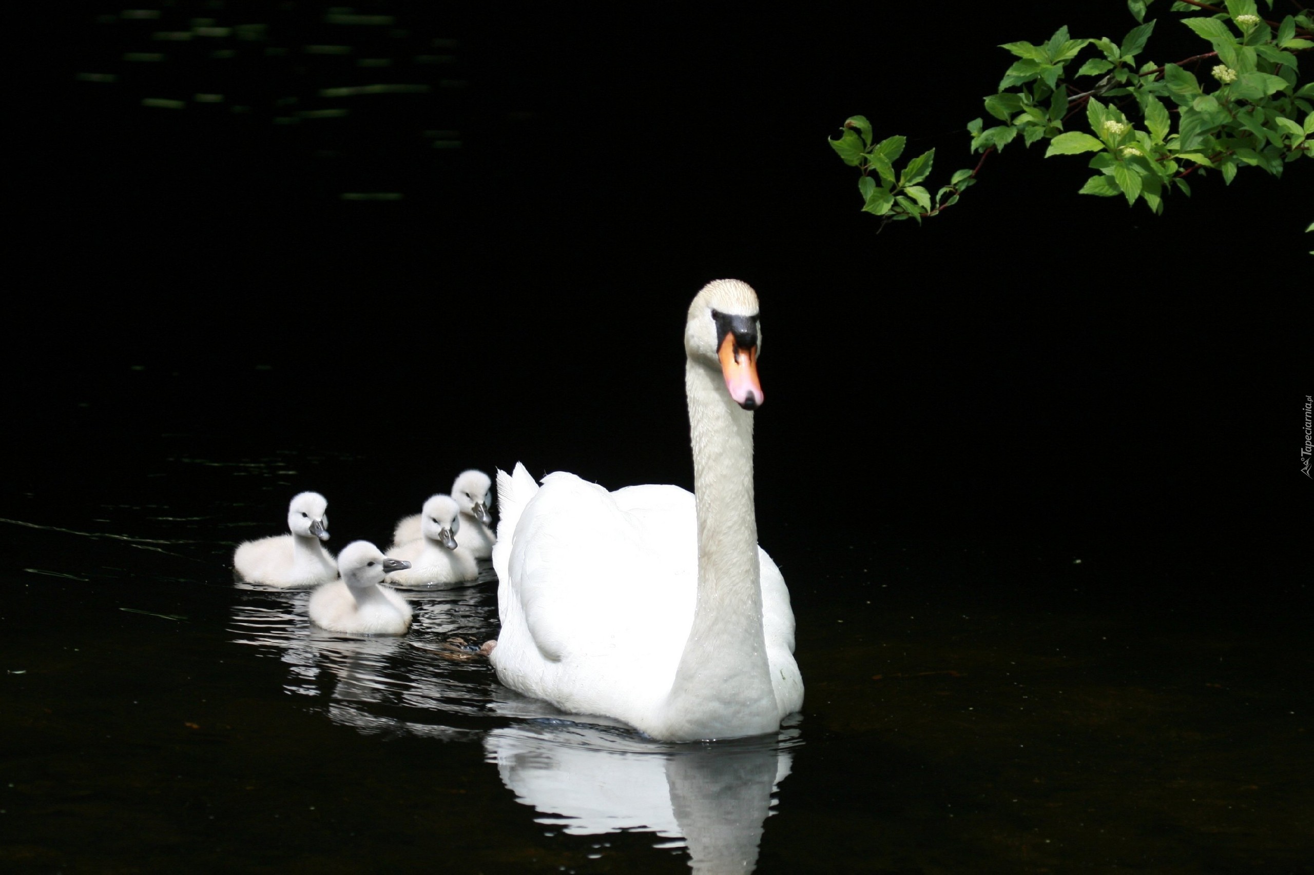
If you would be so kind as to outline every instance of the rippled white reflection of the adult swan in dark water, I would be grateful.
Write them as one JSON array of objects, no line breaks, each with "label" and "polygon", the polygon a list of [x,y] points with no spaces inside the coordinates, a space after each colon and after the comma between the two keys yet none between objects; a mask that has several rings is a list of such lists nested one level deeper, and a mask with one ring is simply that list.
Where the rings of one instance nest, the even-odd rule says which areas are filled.
[{"label": "rippled white reflection of the adult swan in dark water", "polygon": [[791,759],[775,738],[664,745],[569,721],[494,729],[484,745],[516,801],[544,815],[537,822],[576,836],[683,838],[695,872],[753,871],[771,794]]}]

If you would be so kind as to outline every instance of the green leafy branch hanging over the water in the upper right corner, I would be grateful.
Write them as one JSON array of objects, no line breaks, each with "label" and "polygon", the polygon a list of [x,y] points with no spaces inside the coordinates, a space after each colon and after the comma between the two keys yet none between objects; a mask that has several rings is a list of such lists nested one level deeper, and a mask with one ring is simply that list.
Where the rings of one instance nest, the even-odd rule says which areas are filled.
[{"label": "green leafy branch hanging over the water in the upper right corner", "polygon": [[[1144,21],[1154,0],[1129,0],[1141,22],[1118,43],[1108,38],[1072,39],[1066,26],[1043,45],[1001,46],[1017,60],[1004,72],[999,92],[986,97],[986,110],[1003,122],[967,125],[971,152],[980,160],[950,176],[934,197],[921,183],[930,175],[936,150],[922,152],[896,171],[904,137],[875,142],[871,123],[853,116],[830,146],[861,172],[862,210],[890,221],[936,215],[958,202],[976,183],[986,158],[1014,139],[1025,146],[1049,141],[1045,156],[1095,152],[1096,171],[1080,193],[1143,200],[1155,213],[1173,188],[1190,194],[1187,177],[1218,171],[1231,184],[1240,167],[1259,167],[1281,176],[1285,164],[1314,158],[1314,83],[1300,84],[1297,55],[1314,49],[1314,17],[1302,9],[1281,21],[1257,14],[1255,0],[1226,0],[1226,9],[1196,0],[1176,0],[1173,12],[1205,12],[1183,24],[1205,39],[1206,51],[1177,63],[1137,63],[1154,33]],[[1273,0],[1265,0],[1272,9]],[[1067,67],[1087,49],[1074,79],[1092,79],[1080,91],[1066,80]],[[1205,62],[1215,87],[1197,78]],[[1206,84],[1210,84],[1205,79]],[[1166,104],[1167,101],[1167,104]],[[1171,108],[1169,108],[1171,106]],[[1083,112],[1084,110],[1084,112]],[[1127,113],[1135,118],[1129,118]],[[1089,133],[1066,130],[1084,116]],[[1077,122],[1079,123],[1079,122]]]}]

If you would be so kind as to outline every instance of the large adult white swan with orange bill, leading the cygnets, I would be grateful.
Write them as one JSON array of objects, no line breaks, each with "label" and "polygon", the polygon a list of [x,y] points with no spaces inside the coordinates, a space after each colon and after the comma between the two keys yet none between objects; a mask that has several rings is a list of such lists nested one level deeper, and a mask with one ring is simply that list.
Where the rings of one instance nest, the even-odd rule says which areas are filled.
[{"label": "large adult white swan with orange bill, leading the cygnets", "polygon": [[669,741],[775,732],[803,706],[790,594],[757,545],[759,346],[753,289],[698,293],[685,326],[692,495],[498,472],[502,683]]}]

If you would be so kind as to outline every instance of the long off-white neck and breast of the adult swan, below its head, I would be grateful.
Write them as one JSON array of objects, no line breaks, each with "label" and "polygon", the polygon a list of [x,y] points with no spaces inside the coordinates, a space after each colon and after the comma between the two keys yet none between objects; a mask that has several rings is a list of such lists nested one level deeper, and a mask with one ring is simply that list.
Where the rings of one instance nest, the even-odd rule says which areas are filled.
[{"label": "long off-white neck and breast of the adult swan, below its head", "polygon": [[677,737],[715,738],[779,727],[762,635],[753,511],[753,414],[719,370],[685,365],[698,507],[698,602],[668,699]]}]

